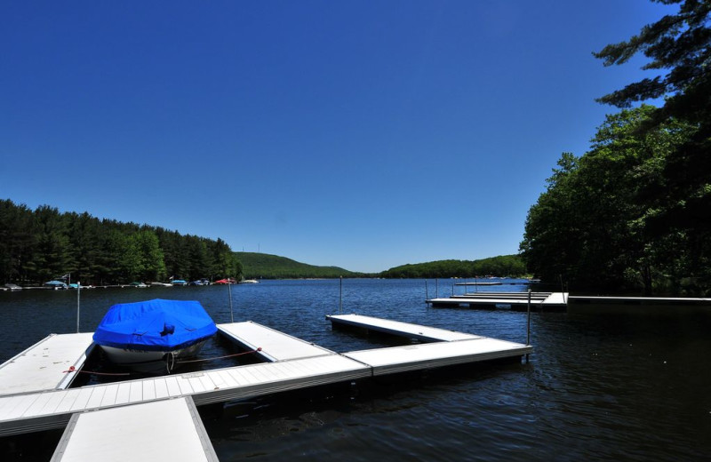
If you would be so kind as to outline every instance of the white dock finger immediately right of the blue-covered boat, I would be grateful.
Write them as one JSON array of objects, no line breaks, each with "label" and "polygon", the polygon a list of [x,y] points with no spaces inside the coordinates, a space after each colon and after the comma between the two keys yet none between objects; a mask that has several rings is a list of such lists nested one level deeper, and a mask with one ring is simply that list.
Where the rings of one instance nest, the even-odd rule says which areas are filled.
[{"label": "white dock finger immediately right of the blue-covered boat", "polygon": [[324,354],[335,354],[321,346],[297,339],[284,332],[275,331],[252,321],[244,323],[217,324],[220,333],[247,349],[256,350],[269,362],[311,358]]}]

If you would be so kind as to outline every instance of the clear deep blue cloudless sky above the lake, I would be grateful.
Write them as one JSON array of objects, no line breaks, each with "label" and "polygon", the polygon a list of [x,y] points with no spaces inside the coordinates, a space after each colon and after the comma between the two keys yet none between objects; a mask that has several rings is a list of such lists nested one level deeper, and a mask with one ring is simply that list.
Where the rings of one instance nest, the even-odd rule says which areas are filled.
[{"label": "clear deep blue cloudless sky above the lake", "polygon": [[0,198],[377,272],[516,253],[648,0],[4,1]]}]

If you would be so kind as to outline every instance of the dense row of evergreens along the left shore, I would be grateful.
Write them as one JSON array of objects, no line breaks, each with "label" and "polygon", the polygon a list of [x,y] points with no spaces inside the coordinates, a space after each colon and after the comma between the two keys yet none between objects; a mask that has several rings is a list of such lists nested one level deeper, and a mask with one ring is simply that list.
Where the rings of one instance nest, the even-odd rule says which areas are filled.
[{"label": "dense row of evergreens along the left shore", "polygon": [[67,274],[106,285],[239,278],[242,266],[221,239],[0,200],[0,282],[41,284]]}]

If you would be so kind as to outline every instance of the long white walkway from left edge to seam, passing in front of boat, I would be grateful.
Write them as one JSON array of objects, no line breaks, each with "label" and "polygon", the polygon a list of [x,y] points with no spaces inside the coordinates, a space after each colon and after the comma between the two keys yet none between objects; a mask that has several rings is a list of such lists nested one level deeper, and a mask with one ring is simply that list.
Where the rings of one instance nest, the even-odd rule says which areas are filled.
[{"label": "long white walkway from left edge to seam, passing in front of boat", "polygon": [[196,405],[228,402],[371,377],[341,354],[127,380],[36,394],[0,396],[0,436],[63,428],[76,412],[191,396]]}]

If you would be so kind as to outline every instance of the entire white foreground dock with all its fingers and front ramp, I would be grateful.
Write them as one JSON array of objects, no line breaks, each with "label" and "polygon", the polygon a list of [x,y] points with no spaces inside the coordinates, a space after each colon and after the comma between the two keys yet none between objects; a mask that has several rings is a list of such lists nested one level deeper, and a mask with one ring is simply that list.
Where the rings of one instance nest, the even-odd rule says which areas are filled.
[{"label": "entire white foreground dock with all its fingers and front ramp", "polygon": [[[175,460],[217,460],[196,406],[455,364],[520,362],[532,351],[530,345],[368,316],[328,319],[334,327],[426,343],[339,354],[258,323],[219,324],[223,337],[266,362],[72,388],[87,350],[91,354],[92,334],[52,334],[0,365],[0,436],[64,428],[52,458],[63,462],[164,458],[173,443]],[[156,431],[155,438],[146,436]]]}]

